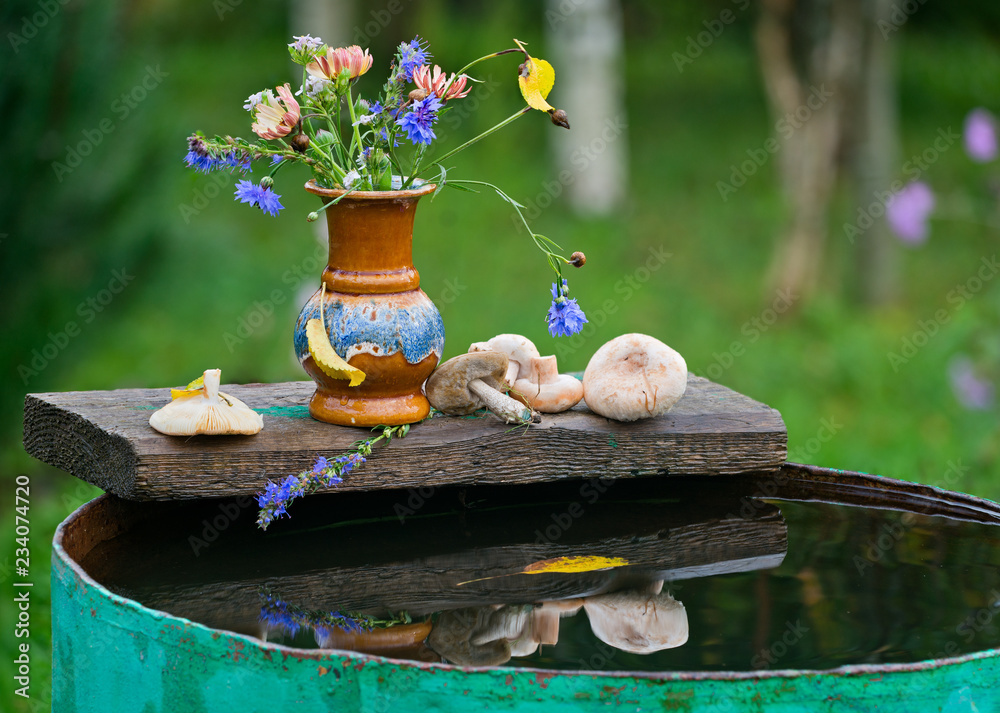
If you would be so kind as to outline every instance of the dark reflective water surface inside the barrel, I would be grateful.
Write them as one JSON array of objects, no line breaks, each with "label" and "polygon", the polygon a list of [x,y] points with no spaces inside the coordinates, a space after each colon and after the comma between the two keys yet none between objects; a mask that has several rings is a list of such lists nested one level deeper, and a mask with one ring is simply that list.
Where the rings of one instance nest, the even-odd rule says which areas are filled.
[{"label": "dark reflective water surface inside the barrel", "polygon": [[[568,519],[579,483],[441,489],[405,521],[399,495],[344,494],[266,533],[247,510],[198,548],[217,504],[134,504],[137,524],[82,564],[118,594],[214,628],[465,665],[825,669],[1000,644],[988,508],[766,485],[764,501],[746,476],[617,482]],[[629,564],[525,573],[561,557]],[[262,587],[285,607],[270,602],[263,622]]]}]

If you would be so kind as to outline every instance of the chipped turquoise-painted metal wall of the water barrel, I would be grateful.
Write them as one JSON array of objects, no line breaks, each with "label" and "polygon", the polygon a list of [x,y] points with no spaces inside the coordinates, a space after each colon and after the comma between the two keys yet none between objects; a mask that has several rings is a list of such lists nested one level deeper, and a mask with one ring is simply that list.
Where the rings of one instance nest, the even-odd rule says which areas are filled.
[{"label": "chipped turquoise-painted metal wall of the water barrel", "polygon": [[110,504],[101,496],[81,507],[53,543],[52,710],[61,713],[909,712],[917,701],[921,710],[1000,710],[997,649],[828,671],[628,673],[472,668],[266,643],[148,609],[87,575],[81,551],[125,527],[106,512]]}]

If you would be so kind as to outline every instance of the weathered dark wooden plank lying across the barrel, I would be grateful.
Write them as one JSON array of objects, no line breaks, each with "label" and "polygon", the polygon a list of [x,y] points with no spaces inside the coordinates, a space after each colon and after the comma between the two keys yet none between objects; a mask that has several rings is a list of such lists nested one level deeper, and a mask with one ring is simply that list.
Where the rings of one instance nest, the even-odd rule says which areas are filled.
[{"label": "weathered dark wooden plank lying across the barrel", "polygon": [[[312,382],[227,385],[264,415],[256,436],[164,436],[149,426],[167,389],[29,394],[24,447],[50,465],[131,500],[259,492],[336,455],[367,431],[309,417]],[[437,416],[379,448],[339,491],[768,471],[785,461],[774,409],[697,376],[667,414],[609,421],[581,404],[512,428],[492,416]]]}]

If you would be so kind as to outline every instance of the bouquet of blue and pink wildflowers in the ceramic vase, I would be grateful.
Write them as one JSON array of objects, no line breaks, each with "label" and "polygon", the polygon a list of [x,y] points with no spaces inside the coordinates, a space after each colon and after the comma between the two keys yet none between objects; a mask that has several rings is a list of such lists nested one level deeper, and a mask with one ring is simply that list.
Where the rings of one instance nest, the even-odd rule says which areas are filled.
[{"label": "bouquet of blue and pink wildflowers in the ceramic vase", "polygon": [[[569,286],[562,267],[581,267],[586,261],[583,253],[563,257],[556,243],[531,230],[517,201],[484,181],[448,179],[444,165],[459,151],[532,110],[548,114],[552,123],[568,129],[566,113],[546,101],[555,82],[552,65],[530,56],[515,40],[516,47],[480,57],[449,75],[437,65],[431,67],[427,45],[417,37],[399,45],[381,92],[366,99],[355,92],[355,84],[372,67],[368,50],[357,45],[331,48],[309,35],[294,39],[288,50],[303,68],[301,85],[294,92],[289,84],[273,91],[266,89],[244,104],[254,116],[251,129],[259,139],[209,139],[196,133],[188,139],[187,165],[203,172],[226,169],[245,174],[253,162],[266,161],[267,173],[259,182],[237,183],[236,200],[272,216],[283,209],[281,196],[274,191],[275,176],[291,163],[306,164],[321,188],[344,189],[348,192],[345,195],[406,189],[425,182],[421,176],[427,175],[433,176],[437,191],[446,185],[471,191],[477,186],[491,188],[514,207],[556,274],[546,316],[549,332],[552,336],[579,332],[587,318],[576,300],[567,297]],[[524,57],[517,81],[527,106],[460,146],[438,152],[435,124],[453,102],[469,94],[470,83],[477,81],[466,72],[480,62],[513,53]],[[321,210],[338,200],[331,200]],[[307,220],[318,217],[318,213],[310,213]]]}]

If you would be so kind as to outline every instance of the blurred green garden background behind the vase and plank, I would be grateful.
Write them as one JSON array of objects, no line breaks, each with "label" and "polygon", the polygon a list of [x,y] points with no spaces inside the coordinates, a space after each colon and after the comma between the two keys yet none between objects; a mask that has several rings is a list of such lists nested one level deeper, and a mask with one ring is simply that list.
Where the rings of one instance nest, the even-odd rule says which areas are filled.
[{"label": "blurred green garden background behind the vase and plank", "polygon": [[[452,70],[509,46],[513,36],[548,56],[544,8],[535,2],[398,6],[370,43],[375,66],[361,79],[362,92],[377,91],[393,46],[417,33]],[[381,7],[357,3],[355,22]],[[582,370],[605,341],[646,332],[680,351],[692,372],[779,409],[791,460],[1000,498],[996,409],[967,410],[948,379],[957,354],[978,355],[987,367],[996,357],[989,345],[1000,286],[987,282],[960,309],[946,299],[997,250],[995,167],[972,163],[957,144],[930,167],[924,178],[939,203],[930,239],[917,249],[893,246],[900,288],[878,307],[857,298],[857,248],[843,225],[856,219],[858,201],[850,186],[838,184],[813,296],[796,300],[765,329],[746,328],[775,299],[766,273],[788,220],[777,161],[726,201],[717,189],[747,150],[775,133],[753,42],[757,9],[736,13],[683,72],[672,59],[703,23],[730,7],[622,3],[626,52],[616,81],[628,114],[627,200],[611,216],[586,217],[560,196],[533,222],[567,253],[587,254],[586,267],[569,275],[573,296],[593,320],[580,337],[560,346],[548,336],[543,317],[550,276],[509,206],[458,192],[421,204],[414,260],[444,317],[445,356],[518,332],[543,354],[556,353],[562,370]],[[6,137],[0,609],[11,621],[13,477],[26,474],[37,585],[33,702],[47,709],[49,543],[58,522],[97,491],[24,453],[24,395],[176,386],[211,367],[222,369],[224,383],[303,378],[291,349],[291,328],[305,299],[294,276],[312,262],[319,242],[304,220],[315,208],[299,188],[308,178],[304,170],[279,174],[287,210],[272,218],[236,204],[228,175],[195,174],[182,162],[192,131],[247,137],[245,98],[295,81],[284,48],[291,41],[285,4],[15,1],[4,3],[0,16],[7,38],[0,47]],[[30,37],[26,20],[34,28]],[[966,1],[922,5],[890,33],[903,158],[930,145],[939,129],[960,132],[970,109],[998,108],[998,32],[994,5]],[[521,105],[515,66],[487,65],[483,74],[500,84],[457,128],[439,131],[449,145]],[[155,86],[146,96],[134,106],[123,103],[122,94],[147,77],[155,77],[149,81]],[[559,93],[557,78],[550,97],[557,106]],[[110,131],[101,130],[109,125]],[[86,132],[95,131],[99,143],[90,141],[87,155],[70,160],[68,147],[87,143]],[[547,151],[555,131],[533,114],[461,154],[450,175],[495,182],[530,201],[563,168]],[[634,289],[623,289],[623,280],[644,275],[637,270],[650,251],[670,256]],[[305,271],[310,284],[318,281],[318,270]],[[264,303],[275,290],[283,299],[272,310]],[[605,313],[607,300],[614,314]],[[888,354],[942,308],[947,322],[894,369]],[[259,326],[239,344],[227,344],[224,335],[237,334],[241,320],[255,312],[263,316],[253,318]],[[78,334],[64,334],[70,322]],[[9,630],[0,639],[0,675],[9,681]]]}]

